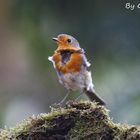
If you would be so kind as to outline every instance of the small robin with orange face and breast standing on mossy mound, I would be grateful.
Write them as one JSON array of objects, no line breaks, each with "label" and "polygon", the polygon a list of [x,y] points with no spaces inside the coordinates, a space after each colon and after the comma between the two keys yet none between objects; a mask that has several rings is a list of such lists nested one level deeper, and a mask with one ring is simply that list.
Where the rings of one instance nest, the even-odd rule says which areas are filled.
[{"label": "small robin with orange face and breast standing on mossy mound", "polygon": [[[90,63],[78,41],[67,34],[60,34],[53,40],[57,42],[58,48],[48,59],[53,63],[59,82],[69,91],[80,91],[85,93],[91,101],[105,105],[94,90],[91,72],[88,71]],[[60,103],[64,102],[68,95],[69,93]]]}]

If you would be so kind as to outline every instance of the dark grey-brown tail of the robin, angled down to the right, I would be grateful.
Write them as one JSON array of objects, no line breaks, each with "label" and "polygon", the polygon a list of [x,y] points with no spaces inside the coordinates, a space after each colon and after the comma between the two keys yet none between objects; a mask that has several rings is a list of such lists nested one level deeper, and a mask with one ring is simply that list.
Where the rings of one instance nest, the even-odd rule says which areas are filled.
[{"label": "dark grey-brown tail of the robin, angled down to the right", "polygon": [[89,97],[91,101],[98,102],[99,105],[106,105],[104,100],[101,99],[94,90],[85,90],[86,95]]}]

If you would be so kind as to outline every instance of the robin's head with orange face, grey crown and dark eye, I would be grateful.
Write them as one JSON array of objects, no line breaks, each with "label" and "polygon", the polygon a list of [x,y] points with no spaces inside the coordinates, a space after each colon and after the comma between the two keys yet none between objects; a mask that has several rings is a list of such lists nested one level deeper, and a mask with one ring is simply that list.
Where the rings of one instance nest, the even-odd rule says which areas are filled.
[{"label": "robin's head with orange face, grey crown and dark eye", "polygon": [[57,51],[79,51],[81,49],[78,41],[70,35],[60,34],[56,38],[52,39],[58,44]]}]

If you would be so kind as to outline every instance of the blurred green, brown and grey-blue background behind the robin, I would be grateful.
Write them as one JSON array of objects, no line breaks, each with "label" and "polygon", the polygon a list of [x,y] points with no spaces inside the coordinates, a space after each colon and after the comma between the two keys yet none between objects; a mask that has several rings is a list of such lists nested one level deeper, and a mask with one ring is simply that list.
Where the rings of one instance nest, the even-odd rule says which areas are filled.
[{"label": "blurred green, brown and grey-blue background behind the robin", "polygon": [[85,49],[111,117],[139,124],[140,9],[127,10],[126,2],[1,0],[0,127],[48,112],[67,93],[47,59],[56,49],[51,38],[60,33],[76,37]]}]

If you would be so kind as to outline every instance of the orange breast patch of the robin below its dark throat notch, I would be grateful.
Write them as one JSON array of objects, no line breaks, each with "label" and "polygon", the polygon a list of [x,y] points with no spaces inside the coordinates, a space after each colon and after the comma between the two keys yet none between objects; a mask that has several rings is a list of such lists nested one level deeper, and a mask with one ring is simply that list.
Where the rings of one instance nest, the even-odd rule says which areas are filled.
[{"label": "orange breast patch of the robin below its dark throat notch", "polygon": [[63,64],[61,53],[55,52],[53,55],[53,60],[55,62],[56,69],[63,74],[79,72],[81,70],[82,56],[80,53],[73,52],[70,56],[70,59],[65,64]]}]

